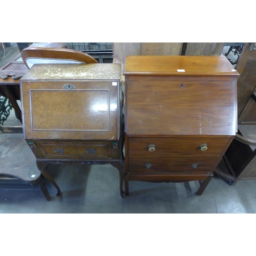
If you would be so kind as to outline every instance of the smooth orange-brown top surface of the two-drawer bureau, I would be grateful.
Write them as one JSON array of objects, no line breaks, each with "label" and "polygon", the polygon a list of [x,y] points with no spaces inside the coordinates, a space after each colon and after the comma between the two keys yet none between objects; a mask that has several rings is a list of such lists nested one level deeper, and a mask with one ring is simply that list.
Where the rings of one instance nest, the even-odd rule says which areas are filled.
[{"label": "smooth orange-brown top surface of the two-drawer bureau", "polygon": [[126,56],[124,75],[239,75],[224,55]]}]

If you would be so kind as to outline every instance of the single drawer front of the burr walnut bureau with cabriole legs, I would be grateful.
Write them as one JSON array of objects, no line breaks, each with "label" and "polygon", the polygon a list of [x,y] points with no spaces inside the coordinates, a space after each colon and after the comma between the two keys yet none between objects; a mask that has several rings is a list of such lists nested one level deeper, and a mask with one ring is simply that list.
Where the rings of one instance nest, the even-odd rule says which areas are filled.
[{"label": "single drawer front of the burr walnut bureau with cabriole legs", "polygon": [[110,158],[111,143],[38,143],[45,158]]}]

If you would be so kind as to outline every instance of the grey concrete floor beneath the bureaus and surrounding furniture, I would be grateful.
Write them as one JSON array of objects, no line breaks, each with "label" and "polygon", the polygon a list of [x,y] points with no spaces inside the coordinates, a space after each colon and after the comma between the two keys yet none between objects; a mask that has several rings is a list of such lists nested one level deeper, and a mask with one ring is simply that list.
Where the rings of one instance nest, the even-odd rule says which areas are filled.
[{"label": "grey concrete floor beneath the bureaus and surrounding furniture", "polygon": [[[16,56],[15,43],[7,48],[0,66]],[[0,56],[2,54],[0,53]],[[11,113],[5,125],[21,125]],[[0,134],[1,136],[1,134]],[[1,138],[1,137],[0,137]],[[0,145],[0,161],[5,161]],[[23,154],[23,152],[20,152]],[[35,172],[38,172],[35,166]],[[48,172],[62,196],[46,180],[52,197],[47,201],[39,189],[6,189],[0,186],[0,213],[255,213],[256,180],[230,186],[214,177],[202,196],[195,195],[198,181],[148,183],[131,181],[130,196],[119,195],[118,170],[111,165],[49,165]]]}]

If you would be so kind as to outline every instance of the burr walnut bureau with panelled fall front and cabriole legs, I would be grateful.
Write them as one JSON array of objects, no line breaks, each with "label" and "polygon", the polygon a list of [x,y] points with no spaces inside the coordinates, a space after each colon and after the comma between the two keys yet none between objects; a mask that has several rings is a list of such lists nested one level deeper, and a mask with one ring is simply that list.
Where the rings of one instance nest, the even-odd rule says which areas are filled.
[{"label": "burr walnut bureau with panelled fall front and cabriole legs", "polygon": [[41,64],[20,80],[24,137],[57,195],[48,163],[111,164],[123,196],[120,75],[113,63]]}]

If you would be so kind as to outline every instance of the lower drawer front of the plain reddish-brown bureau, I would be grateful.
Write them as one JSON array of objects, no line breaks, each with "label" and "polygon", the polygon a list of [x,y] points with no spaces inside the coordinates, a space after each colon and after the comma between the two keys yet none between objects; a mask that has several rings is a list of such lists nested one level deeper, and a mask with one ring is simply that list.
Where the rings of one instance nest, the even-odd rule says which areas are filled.
[{"label": "lower drawer front of the plain reddish-brown bureau", "polygon": [[126,173],[160,174],[187,173],[210,174],[219,158],[135,158],[128,159]]}]

